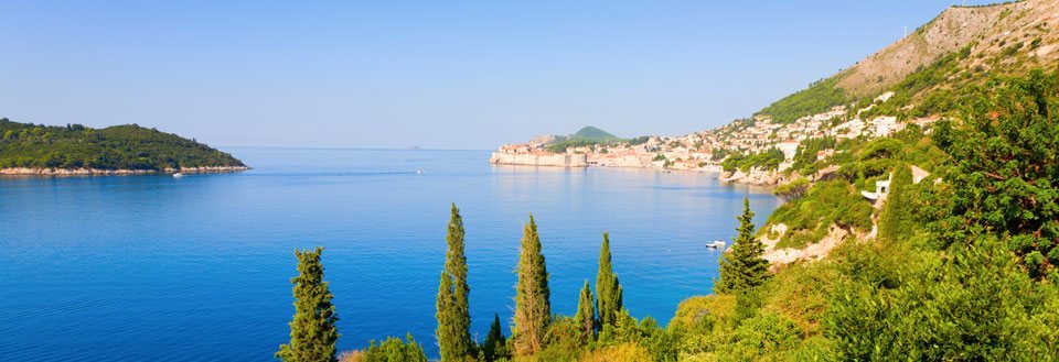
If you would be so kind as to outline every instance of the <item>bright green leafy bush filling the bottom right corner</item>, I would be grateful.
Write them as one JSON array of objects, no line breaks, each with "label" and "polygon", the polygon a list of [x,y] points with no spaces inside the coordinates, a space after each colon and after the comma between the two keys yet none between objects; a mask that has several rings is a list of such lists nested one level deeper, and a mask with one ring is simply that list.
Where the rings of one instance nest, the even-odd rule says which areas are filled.
[{"label": "bright green leafy bush filling the bottom right corner", "polygon": [[[985,237],[899,272],[896,284],[843,277],[825,317],[842,360],[1039,360],[1055,350],[1055,287],[1020,273]],[[876,253],[886,251],[877,250]],[[879,257],[879,256],[876,256]],[[1042,339],[1044,337],[1044,339]],[[1042,341],[1044,343],[1041,343]]]}]

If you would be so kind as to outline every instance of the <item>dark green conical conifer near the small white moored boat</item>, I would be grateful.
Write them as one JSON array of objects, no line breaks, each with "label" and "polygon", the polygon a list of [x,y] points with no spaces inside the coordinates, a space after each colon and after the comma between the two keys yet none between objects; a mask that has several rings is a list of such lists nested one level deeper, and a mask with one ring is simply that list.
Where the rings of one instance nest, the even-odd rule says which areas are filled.
[{"label": "dark green conical conifer near the small white moored boat", "polygon": [[742,215],[737,219],[739,234],[720,263],[720,279],[714,286],[714,293],[748,292],[764,283],[769,275],[769,262],[761,257],[764,244],[753,237],[753,212],[746,197],[742,198]]}]

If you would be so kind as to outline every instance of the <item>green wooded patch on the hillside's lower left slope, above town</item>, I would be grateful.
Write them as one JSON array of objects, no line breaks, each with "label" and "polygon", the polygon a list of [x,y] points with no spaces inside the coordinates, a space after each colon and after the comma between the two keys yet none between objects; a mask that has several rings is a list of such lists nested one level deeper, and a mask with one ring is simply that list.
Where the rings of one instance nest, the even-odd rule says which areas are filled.
[{"label": "green wooded patch on the hillside's lower left slope, above town", "polygon": [[832,107],[852,102],[851,96],[838,88],[838,76],[821,79],[809,88],[787,96],[766,107],[757,116],[768,116],[777,123],[792,123],[799,118],[831,110]]}]

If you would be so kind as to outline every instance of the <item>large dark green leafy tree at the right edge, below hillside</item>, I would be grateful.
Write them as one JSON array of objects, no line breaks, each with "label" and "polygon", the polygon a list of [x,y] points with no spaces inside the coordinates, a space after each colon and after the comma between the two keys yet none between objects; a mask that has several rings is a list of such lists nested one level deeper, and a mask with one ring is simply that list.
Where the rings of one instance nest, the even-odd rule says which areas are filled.
[{"label": "large dark green leafy tree at the right edge, below hillside", "polygon": [[[1034,277],[1059,262],[1059,74],[1033,72],[996,83],[966,101],[964,124],[946,147],[955,189],[946,223],[1001,237]],[[960,226],[971,226],[962,228]]]}]

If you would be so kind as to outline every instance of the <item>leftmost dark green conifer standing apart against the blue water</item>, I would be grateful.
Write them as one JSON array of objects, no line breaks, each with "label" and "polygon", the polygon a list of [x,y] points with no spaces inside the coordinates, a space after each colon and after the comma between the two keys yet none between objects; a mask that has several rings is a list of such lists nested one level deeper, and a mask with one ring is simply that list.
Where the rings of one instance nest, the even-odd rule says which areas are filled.
[{"label": "leftmost dark green conifer standing apart against the blue water", "polygon": [[290,343],[279,347],[276,358],[292,362],[334,361],[339,320],[328,282],[323,281],[323,264],[320,253],[295,250],[298,256],[298,276],[290,279],[295,285],[295,316],[290,321]]}]

